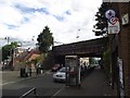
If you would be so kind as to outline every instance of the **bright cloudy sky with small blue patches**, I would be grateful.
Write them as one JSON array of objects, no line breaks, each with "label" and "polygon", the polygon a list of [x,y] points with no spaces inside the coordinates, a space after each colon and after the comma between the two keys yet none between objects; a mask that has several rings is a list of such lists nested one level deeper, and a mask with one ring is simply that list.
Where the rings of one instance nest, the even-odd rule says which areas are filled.
[{"label": "bright cloudy sky with small blue patches", "polygon": [[4,37],[36,41],[47,25],[57,42],[98,38],[92,29],[101,3],[102,0],[0,0],[0,46],[6,44]]}]

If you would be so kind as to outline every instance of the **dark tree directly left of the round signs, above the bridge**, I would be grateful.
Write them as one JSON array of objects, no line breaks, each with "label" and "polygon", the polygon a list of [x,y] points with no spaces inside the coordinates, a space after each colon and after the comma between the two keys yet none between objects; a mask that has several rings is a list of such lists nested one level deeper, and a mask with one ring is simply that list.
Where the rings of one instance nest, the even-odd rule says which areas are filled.
[{"label": "dark tree directly left of the round signs, above the bridge", "polygon": [[95,28],[95,30],[93,30],[95,33],[95,36],[107,35],[107,20],[105,17],[105,12],[107,10],[108,2],[103,2],[99,9],[99,12],[95,14],[95,21],[98,21],[98,23],[93,26]]}]

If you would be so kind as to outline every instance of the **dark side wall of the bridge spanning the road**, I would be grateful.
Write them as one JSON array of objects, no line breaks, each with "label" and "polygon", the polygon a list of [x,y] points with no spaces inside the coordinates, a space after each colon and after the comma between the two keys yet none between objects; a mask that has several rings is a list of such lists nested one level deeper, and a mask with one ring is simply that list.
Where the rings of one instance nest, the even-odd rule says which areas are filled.
[{"label": "dark side wall of the bridge spanning the road", "polygon": [[53,52],[55,56],[66,56],[66,54],[101,56],[104,51],[104,41],[106,41],[106,39],[99,38],[87,41],[56,46],[53,47]]}]

